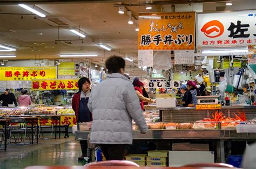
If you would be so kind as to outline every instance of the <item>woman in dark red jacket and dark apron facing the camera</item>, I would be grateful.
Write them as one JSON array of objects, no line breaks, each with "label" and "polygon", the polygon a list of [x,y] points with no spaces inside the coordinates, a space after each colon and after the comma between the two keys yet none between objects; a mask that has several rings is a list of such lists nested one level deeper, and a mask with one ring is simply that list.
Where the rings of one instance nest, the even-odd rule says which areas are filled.
[{"label": "woman in dark red jacket and dark apron facing the camera", "polygon": [[[91,94],[91,82],[88,78],[81,78],[77,82],[79,91],[72,98],[72,109],[75,111],[77,123],[92,121],[92,114],[87,103]],[[78,160],[83,160],[86,156],[87,141],[80,140],[82,156]]]}]

